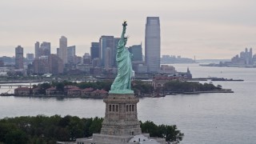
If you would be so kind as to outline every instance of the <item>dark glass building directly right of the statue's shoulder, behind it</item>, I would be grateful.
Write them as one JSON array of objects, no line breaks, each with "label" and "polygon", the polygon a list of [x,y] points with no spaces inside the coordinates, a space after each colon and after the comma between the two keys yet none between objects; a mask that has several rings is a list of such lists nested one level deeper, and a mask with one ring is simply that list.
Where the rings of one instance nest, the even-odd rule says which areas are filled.
[{"label": "dark glass building directly right of the statue's shoulder, behind it", "polygon": [[142,62],[142,44],[130,46],[128,50],[133,54],[133,62]]}]

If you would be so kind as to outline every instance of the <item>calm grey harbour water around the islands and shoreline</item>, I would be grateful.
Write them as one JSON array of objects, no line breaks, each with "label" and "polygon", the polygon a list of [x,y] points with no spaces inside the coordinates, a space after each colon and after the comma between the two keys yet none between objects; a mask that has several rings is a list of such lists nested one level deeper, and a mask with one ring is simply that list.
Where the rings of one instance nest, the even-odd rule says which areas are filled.
[{"label": "calm grey harbour water around the islands and shoreline", "polygon": [[[244,82],[214,82],[234,90],[230,94],[169,95],[142,98],[138,119],[157,124],[177,125],[185,133],[182,143],[256,142],[256,69],[202,67],[198,64],[174,65],[178,71],[187,66],[194,78],[223,77]],[[0,89],[0,93],[7,90]],[[66,114],[81,118],[104,117],[102,99],[0,97],[0,118],[22,115]]]}]

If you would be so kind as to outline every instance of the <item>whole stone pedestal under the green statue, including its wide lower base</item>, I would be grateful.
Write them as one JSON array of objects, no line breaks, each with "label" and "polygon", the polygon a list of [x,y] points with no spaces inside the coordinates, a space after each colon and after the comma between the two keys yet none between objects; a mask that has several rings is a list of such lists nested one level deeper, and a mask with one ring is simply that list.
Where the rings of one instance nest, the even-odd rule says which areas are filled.
[{"label": "whole stone pedestal under the green statue, including its wide lower base", "polygon": [[103,101],[106,103],[106,113],[101,133],[93,134],[91,138],[78,138],[76,143],[166,143],[163,138],[150,139],[150,134],[142,134],[137,113],[139,100],[134,94],[109,94]]}]

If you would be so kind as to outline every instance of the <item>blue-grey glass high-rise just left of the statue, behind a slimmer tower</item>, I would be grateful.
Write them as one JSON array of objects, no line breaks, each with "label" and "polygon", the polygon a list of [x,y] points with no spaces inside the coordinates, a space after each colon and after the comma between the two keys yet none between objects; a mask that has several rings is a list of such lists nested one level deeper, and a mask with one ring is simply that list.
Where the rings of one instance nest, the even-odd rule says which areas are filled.
[{"label": "blue-grey glass high-rise just left of the statue, behind a slimmer tower", "polygon": [[110,48],[110,58],[112,61],[110,62],[110,66],[114,65],[114,36],[105,36],[103,35],[99,39],[99,46],[100,46],[100,59],[102,63],[102,67],[105,67],[106,61],[106,48]]}]

